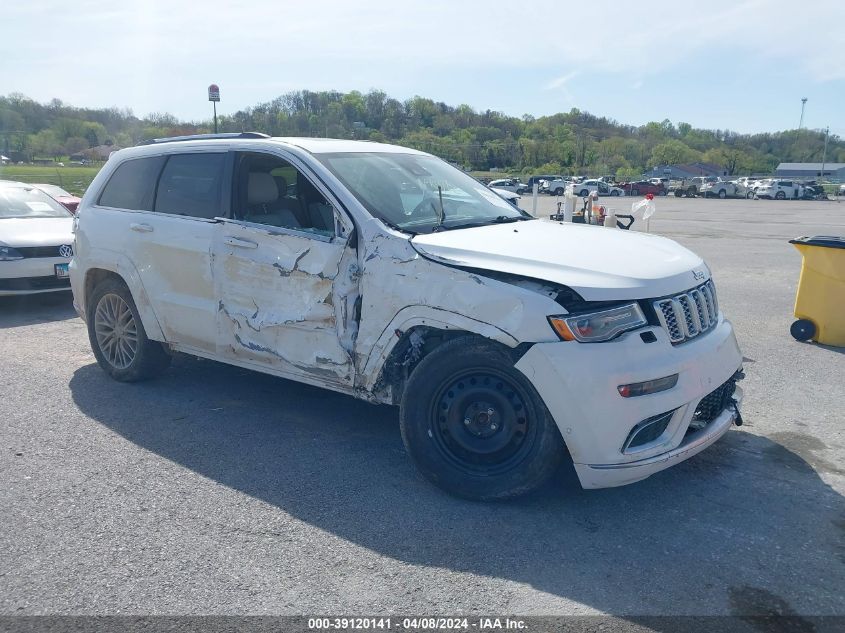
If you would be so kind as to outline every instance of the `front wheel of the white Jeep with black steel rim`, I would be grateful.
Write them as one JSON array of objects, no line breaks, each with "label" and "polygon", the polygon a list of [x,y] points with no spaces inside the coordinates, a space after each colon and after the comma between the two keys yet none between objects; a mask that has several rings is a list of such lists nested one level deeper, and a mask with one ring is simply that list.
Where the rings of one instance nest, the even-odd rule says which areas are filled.
[{"label": "front wheel of the white Jeep with black steel rim", "polygon": [[509,353],[475,336],[447,341],[420,361],[399,424],[420,472],[467,499],[526,494],[566,454],[552,416]]}]

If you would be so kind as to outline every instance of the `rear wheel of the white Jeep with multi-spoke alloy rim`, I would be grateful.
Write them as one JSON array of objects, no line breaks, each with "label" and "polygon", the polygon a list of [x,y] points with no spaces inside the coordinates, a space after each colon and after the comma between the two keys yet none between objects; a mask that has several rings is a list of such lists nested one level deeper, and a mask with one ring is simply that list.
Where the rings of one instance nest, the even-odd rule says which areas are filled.
[{"label": "rear wheel of the white Jeep with multi-spoke alloy rim", "polygon": [[147,380],[170,364],[162,344],[147,338],[132,293],[122,281],[108,279],[97,285],[87,312],[91,349],[100,367],[115,380]]}]

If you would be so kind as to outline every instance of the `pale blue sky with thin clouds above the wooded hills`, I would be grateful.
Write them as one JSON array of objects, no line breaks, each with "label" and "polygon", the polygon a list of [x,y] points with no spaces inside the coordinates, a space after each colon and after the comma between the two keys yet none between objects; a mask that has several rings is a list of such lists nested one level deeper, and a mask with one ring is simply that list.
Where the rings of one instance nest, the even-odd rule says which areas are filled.
[{"label": "pale blue sky with thin clouds above the wooded hills", "polygon": [[521,116],[845,137],[845,2],[35,0],[0,22],[0,94],[210,116],[380,88]]}]

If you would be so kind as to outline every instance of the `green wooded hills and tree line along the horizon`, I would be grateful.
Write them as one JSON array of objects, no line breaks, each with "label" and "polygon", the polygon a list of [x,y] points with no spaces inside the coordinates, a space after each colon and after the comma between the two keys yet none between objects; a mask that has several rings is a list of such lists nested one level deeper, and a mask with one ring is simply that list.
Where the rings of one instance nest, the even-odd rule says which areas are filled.
[{"label": "green wooded hills and tree line along the horizon", "polygon": [[[130,109],[0,96],[0,151],[15,160],[59,159],[99,145],[127,147],[211,129],[210,120],[185,122],[167,113],[138,118]],[[513,117],[419,96],[399,101],[381,90],[289,92],[221,115],[219,129],[398,143],[474,171],[613,174],[622,180],[658,165],[697,161],[731,175],[765,174],[780,162],[820,162],[825,152],[821,130],[738,134],[668,119],[633,126],[575,108],[551,116]],[[828,140],[826,159],[845,162],[845,142],[836,135]]]}]

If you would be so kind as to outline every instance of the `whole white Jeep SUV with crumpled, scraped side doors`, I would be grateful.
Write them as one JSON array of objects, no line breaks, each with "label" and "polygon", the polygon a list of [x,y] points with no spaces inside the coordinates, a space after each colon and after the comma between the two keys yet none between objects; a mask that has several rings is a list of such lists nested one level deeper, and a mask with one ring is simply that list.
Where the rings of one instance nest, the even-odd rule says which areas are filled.
[{"label": "whole white Jeep SUV with crumpled, scraped side doors", "polygon": [[114,154],[77,217],[74,304],[113,378],[179,351],[399,405],[461,496],[527,492],[567,453],[585,488],[630,483],[741,423],[698,256],[535,219],[429,154],[162,139]]}]

